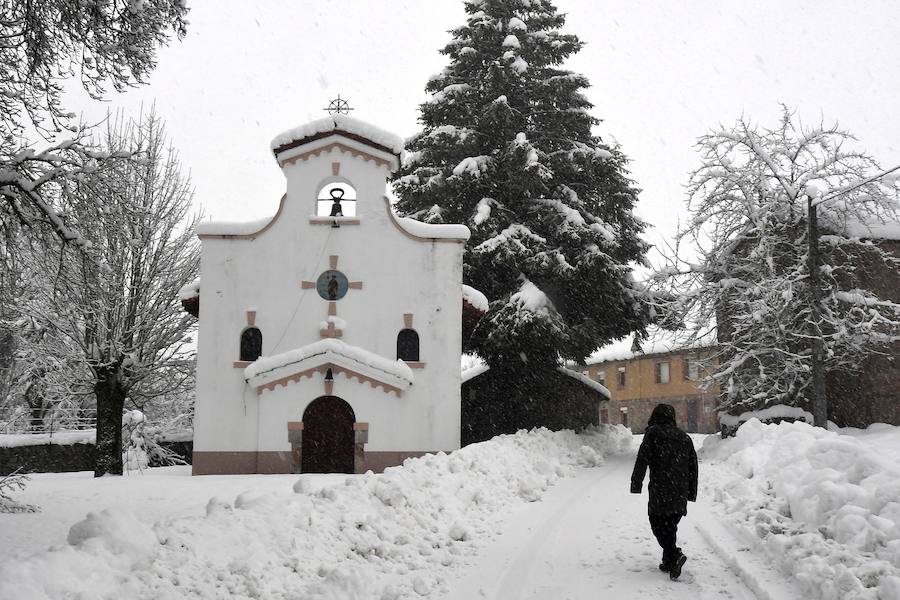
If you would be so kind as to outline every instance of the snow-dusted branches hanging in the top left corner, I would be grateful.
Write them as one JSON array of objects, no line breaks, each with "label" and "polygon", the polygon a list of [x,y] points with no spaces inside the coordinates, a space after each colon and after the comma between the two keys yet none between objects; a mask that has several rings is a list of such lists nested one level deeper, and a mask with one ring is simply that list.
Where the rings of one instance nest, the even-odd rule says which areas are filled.
[{"label": "snow-dusted branches hanging in the top left corner", "polygon": [[[156,51],[185,34],[183,0],[0,0],[0,222],[46,225],[66,242],[85,238],[62,199],[95,172],[125,158],[86,144],[62,104],[64,83],[79,77],[93,98],[145,81]],[[54,140],[37,149],[29,138]]]}]

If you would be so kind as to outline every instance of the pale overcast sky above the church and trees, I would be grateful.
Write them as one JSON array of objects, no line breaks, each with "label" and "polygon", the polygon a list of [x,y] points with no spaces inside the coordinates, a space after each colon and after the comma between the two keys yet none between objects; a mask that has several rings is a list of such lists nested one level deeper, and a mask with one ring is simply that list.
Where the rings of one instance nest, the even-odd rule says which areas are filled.
[{"label": "pale overcast sky above the church and trees", "polygon": [[[187,37],[159,55],[149,85],[102,103],[156,102],[215,220],[273,214],[284,190],[269,142],[325,116],[338,93],[355,117],[408,137],[428,77],[446,64],[460,0],[190,0]],[[900,164],[900,17],[892,0],[558,0],[585,48],[598,133],[617,141],[643,191],[638,214],[671,237],[693,144],[745,115],[837,120],[884,166]]]}]

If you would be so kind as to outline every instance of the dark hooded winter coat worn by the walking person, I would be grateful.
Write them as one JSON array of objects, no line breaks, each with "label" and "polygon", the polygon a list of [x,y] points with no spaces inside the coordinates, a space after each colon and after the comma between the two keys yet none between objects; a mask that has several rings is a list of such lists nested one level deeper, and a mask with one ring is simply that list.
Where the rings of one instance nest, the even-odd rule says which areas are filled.
[{"label": "dark hooded winter coat worn by the walking person", "polygon": [[691,438],[675,424],[675,408],[668,404],[657,405],[650,415],[631,474],[631,493],[641,493],[647,467],[647,512],[686,515],[688,501],[697,500],[697,453]]}]

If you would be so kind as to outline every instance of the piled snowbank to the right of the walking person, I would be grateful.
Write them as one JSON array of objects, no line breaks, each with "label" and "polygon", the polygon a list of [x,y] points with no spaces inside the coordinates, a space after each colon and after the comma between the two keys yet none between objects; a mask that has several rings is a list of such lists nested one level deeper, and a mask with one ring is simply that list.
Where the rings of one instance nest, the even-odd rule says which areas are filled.
[{"label": "piled snowbank to the right of the walking person", "polygon": [[900,600],[896,463],[846,435],[757,419],[707,438],[701,457],[728,468],[715,470],[716,500],[808,597]]}]

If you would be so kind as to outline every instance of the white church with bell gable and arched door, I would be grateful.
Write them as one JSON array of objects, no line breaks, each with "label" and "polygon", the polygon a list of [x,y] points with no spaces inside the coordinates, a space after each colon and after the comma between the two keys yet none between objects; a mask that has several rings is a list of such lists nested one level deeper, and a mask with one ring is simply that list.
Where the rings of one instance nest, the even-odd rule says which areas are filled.
[{"label": "white church with bell gable and arched door", "polygon": [[469,230],[393,213],[402,148],[342,114],[286,131],[275,215],[197,228],[195,475],[379,472],[459,448]]}]

